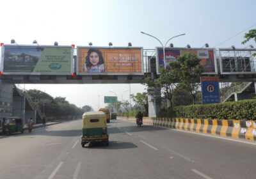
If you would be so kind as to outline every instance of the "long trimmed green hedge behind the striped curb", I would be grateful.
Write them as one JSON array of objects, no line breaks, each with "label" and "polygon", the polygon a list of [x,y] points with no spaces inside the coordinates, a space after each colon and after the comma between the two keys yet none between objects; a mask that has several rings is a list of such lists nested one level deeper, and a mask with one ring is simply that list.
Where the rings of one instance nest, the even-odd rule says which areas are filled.
[{"label": "long trimmed green hedge behind the striped curb", "polygon": [[241,100],[224,104],[183,105],[174,107],[176,116],[212,118],[218,120],[256,120],[256,100]]}]

